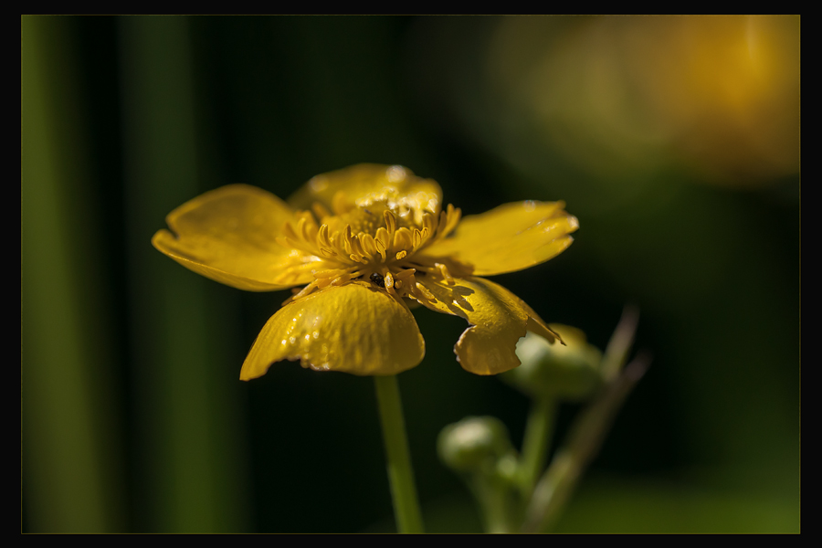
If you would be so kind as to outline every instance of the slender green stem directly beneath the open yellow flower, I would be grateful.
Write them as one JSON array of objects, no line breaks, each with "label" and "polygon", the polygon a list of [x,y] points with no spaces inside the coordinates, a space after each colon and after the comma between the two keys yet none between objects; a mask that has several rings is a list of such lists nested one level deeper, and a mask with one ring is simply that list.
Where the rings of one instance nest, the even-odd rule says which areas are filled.
[{"label": "slender green stem directly beneath the open yellow flower", "polygon": [[414,486],[414,470],[408,451],[406,423],[395,375],[374,376],[380,423],[383,426],[385,458],[394,515],[399,532],[423,532],[422,515]]}]

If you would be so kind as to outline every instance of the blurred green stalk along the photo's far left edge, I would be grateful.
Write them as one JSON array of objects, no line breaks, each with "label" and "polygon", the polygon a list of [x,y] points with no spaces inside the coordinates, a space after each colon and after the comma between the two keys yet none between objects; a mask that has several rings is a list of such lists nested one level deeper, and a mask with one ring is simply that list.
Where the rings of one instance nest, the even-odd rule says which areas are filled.
[{"label": "blurred green stalk along the photo's far left edge", "polygon": [[119,415],[69,23],[21,18],[23,527],[113,532]]}]

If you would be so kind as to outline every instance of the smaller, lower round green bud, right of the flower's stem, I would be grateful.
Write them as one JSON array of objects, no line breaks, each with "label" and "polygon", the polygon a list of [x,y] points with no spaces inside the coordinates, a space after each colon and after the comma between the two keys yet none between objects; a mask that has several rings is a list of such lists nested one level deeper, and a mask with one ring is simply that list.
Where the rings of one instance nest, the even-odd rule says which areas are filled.
[{"label": "smaller, lower round green bud, right of the flower's stem", "polygon": [[498,418],[468,416],[442,429],[437,453],[455,471],[493,474],[501,459],[513,454],[513,446]]}]

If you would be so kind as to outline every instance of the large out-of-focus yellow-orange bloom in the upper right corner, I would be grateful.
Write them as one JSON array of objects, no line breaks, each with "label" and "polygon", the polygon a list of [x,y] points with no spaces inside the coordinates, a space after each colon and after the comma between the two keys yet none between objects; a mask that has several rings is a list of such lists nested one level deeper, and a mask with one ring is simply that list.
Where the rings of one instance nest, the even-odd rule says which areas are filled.
[{"label": "large out-of-focus yellow-orange bloom in the upper right corner", "polygon": [[567,178],[572,191],[601,186],[579,190],[586,205],[613,206],[672,171],[736,187],[799,173],[799,16],[421,23],[428,102],[450,103],[465,131],[534,181],[566,162],[588,174]]}]

